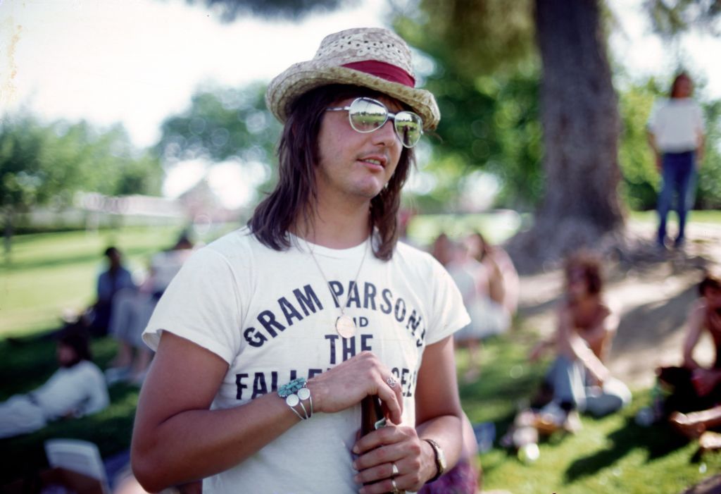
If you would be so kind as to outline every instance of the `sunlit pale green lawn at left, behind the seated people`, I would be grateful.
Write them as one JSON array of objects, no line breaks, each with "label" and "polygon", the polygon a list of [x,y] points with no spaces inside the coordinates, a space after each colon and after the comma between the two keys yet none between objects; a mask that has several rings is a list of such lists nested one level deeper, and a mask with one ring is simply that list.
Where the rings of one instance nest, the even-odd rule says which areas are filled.
[{"label": "sunlit pale green lawn at left, behind the seated people", "polygon": [[179,234],[174,226],[153,226],[13,237],[11,262],[0,260],[0,337],[58,327],[63,311],[92,304],[108,246],[123,252],[128,269],[142,272]]}]

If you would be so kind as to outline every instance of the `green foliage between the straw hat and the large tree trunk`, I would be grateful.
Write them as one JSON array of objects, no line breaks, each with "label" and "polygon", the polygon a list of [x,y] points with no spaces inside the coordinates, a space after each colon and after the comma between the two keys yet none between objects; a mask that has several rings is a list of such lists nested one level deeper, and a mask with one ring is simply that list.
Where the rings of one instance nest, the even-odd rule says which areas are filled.
[{"label": "green foliage between the straw hat and the large tree trunk", "polygon": [[421,1],[397,13],[395,29],[433,60],[424,84],[442,118],[425,171],[437,177],[439,206],[474,169],[500,180],[499,206],[529,209],[541,197],[539,71],[528,9],[525,0]]}]

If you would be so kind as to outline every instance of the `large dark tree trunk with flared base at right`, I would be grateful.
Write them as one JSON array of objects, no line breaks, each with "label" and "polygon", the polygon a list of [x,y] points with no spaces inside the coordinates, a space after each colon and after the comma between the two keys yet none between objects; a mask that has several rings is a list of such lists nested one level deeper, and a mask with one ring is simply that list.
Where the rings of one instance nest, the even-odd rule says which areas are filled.
[{"label": "large dark tree trunk with flared base at right", "polygon": [[597,0],[536,0],[546,193],[510,250],[523,271],[608,243],[624,224],[619,113]]}]

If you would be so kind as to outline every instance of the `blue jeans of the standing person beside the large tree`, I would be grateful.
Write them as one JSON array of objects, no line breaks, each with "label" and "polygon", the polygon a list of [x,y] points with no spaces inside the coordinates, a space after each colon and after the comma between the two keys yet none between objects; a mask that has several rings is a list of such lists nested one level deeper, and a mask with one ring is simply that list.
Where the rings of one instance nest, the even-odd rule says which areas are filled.
[{"label": "blue jeans of the standing person beside the large tree", "polygon": [[666,237],[666,216],[671,210],[673,195],[676,193],[676,213],[678,213],[678,236],[676,244],[684,242],[686,214],[694,205],[695,180],[694,151],[663,154],[663,185],[658,195],[658,243],[663,245]]}]

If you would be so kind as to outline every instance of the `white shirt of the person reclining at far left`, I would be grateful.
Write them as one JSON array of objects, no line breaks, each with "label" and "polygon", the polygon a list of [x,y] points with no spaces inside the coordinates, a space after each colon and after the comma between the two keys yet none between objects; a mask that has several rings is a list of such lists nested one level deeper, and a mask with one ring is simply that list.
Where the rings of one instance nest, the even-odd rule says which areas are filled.
[{"label": "white shirt of the person reclining at far left", "polygon": [[87,360],[72,367],[61,367],[43,386],[35,389],[32,396],[43,409],[46,420],[66,415],[82,417],[99,412],[110,403],[105,376],[98,366]]}]

